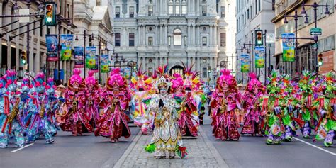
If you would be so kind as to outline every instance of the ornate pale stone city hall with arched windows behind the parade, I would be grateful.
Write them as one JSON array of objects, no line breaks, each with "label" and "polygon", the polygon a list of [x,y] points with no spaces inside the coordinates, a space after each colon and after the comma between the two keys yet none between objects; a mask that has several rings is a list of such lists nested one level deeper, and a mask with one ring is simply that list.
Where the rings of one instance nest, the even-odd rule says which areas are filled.
[{"label": "ornate pale stone city hall with arched windows behind the parade", "polygon": [[234,6],[228,0],[114,0],[113,64],[138,62],[149,74],[167,64],[172,74],[182,72],[181,61],[193,62],[213,83],[216,70],[234,70]]}]

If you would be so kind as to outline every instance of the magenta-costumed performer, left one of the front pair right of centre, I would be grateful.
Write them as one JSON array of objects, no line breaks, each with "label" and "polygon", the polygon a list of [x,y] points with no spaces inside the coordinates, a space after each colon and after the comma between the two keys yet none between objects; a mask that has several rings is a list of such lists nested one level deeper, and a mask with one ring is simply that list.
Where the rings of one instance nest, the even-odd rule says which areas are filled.
[{"label": "magenta-costumed performer, left one of the front pair right of centre", "polygon": [[235,109],[240,107],[240,93],[230,70],[222,69],[211,100],[213,133],[216,140],[239,140]]}]

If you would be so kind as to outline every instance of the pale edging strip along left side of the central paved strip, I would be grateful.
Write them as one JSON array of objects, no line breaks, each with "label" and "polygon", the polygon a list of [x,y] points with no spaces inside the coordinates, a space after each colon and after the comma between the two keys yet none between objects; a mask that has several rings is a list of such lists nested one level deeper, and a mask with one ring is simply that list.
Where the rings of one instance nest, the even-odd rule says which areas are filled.
[{"label": "pale edging strip along left side of the central paved strip", "polygon": [[139,130],[138,135],[133,139],[133,142],[128,146],[128,148],[125,150],[123,155],[121,155],[121,158],[118,159],[118,162],[116,162],[116,164],[114,164],[114,166],[113,166],[113,162],[112,162],[112,157],[110,157],[110,159],[108,159],[101,167],[102,168],[106,168],[106,167],[116,167],[116,168],[118,168],[118,167],[121,167],[123,165],[123,162],[125,162],[126,157],[128,157],[128,155],[130,155],[130,152],[132,152],[133,148],[138,143],[141,135],[142,135],[142,132],[141,132],[141,130]]}]

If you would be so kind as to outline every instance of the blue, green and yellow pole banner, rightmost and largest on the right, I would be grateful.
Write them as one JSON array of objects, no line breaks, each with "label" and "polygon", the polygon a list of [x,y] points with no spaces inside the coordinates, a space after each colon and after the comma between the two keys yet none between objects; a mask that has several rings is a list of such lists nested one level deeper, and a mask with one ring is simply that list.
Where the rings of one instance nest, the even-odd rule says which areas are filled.
[{"label": "blue, green and yellow pole banner, rightmost and largest on the right", "polygon": [[295,60],[295,33],[282,33],[282,61],[294,62]]}]

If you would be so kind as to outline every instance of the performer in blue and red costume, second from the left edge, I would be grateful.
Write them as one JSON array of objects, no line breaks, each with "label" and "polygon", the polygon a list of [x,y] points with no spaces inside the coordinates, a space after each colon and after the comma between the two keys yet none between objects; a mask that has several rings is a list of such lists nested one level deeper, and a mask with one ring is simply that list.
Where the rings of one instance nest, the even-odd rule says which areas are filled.
[{"label": "performer in blue and red costume, second from the left edge", "polygon": [[[26,128],[27,140],[26,143],[30,141],[35,141],[40,138],[40,134],[45,136],[45,141],[50,144],[54,142],[52,139],[52,128],[50,122],[48,121],[47,108],[47,96],[45,94],[46,83],[43,82],[45,75],[39,73],[33,79],[33,85],[35,87],[35,92],[33,94],[33,106],[30,106],[29,113],[26,118],[30,118],[28,128]],[[27,121],[27,120],[26,120]]]}]

